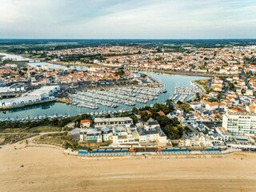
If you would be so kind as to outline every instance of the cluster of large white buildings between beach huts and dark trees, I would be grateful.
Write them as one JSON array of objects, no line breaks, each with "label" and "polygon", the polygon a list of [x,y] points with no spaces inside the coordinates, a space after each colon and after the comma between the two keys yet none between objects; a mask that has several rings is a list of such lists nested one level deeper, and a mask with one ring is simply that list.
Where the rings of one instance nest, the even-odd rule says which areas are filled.
[{"label": "cluster of large white buildings between beach huts and dark trees", "polygon": [[165,146],[169,141],[158,122],[150,118],[134,125],[131,118],[95,118],[94,128],[80,130],[80,142],[107,142],[113,146],[145,142]]}]

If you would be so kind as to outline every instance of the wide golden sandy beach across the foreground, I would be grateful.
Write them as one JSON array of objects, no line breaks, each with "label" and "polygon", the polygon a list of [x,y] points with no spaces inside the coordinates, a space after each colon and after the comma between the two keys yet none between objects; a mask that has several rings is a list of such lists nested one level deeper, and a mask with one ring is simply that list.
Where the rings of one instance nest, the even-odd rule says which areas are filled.
[{"label": "wide golden sandy beach across the foreground", "polygon": [[[23,165],[23,167],[21,167]],[[0,149],[0,191],[255,191],[256,154],[86,160],[61,150]]]}]

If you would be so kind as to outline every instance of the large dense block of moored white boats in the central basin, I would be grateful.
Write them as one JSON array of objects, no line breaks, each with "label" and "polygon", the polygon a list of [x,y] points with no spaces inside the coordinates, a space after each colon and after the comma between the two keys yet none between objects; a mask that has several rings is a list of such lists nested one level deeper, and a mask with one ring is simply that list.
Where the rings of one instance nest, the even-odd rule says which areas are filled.
[{"label": "large dense block of moored white boats in the central basin", "polygon": [[110,90],[86,90],[70,94],[71,105],[78,105],[93,110],[99,106],[117,108],[119,105],[136,106],[136,103],[146,104],[149,101],[157,100],[159,94],[166,93],[161,87],[129,87],[113,88]]}]

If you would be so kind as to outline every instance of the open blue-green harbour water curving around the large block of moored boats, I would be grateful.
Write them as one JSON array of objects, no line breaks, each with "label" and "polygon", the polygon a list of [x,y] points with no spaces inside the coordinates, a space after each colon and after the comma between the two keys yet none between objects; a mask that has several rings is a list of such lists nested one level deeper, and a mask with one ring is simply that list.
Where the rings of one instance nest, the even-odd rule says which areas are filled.
[{"label": "open blue-green harbour water curving around the large block of moored boats", "polygon": [[[174,93],[174,86],[190,86],[190,82],[197,79],[202,79],[203,77],[193,77],[193,76],[183,76],[176,74],[154,74],[146,73],[151,77],[162,82],[164,88],[167,90],[166,94],[160,94],[157,100],[150,101],[146,105],[154,104],[156,102],[162,103],[166,99],[170,98],[170,95]],[[100,105],[99,105],[100,106]],[[145,106],[145,104],[137,103],[137,107]],[[83,107],[66,105],[60,102],[51,102],[38,106],[27,106],[24,108],[19,108],[15,110],[0,111],[0,118],[26,118],[28,115],[30,117],[36,117],[38,115],[55,115],[55,114],[69,114],[71,116],[77,115],[79,113],[90,113],[99,112],[102,110],[121,110],[125,108],[126,110],[132,109],[133,106],[123,106],[120,105],[118,108],[113,109],[107,106],[100,106],[98,110],[90,110]]]}]

